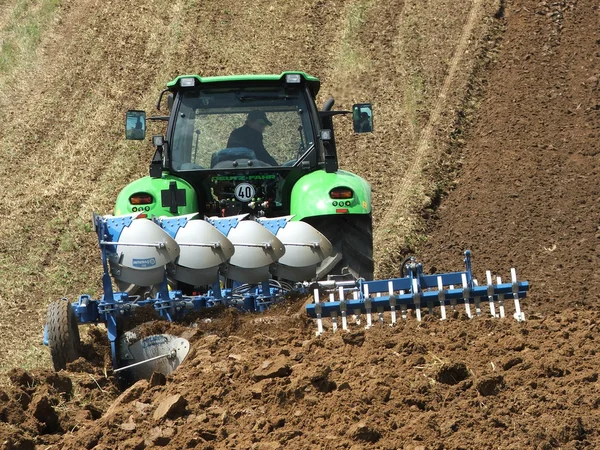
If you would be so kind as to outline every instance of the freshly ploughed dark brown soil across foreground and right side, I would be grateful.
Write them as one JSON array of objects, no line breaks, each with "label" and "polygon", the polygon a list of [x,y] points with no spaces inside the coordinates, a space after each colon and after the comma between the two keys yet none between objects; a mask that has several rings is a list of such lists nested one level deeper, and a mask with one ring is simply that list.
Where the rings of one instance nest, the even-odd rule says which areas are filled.
[{"label": "freshly ploughed dark brown soil across foreground and right side", "polygon": [[82,329],[87,360],[10,372],[0,448],[600,447],[599,18],[591,0],[506,0],[486,18],[494,51],[448,145],[453,189],[415,247],[428,272],[461,269],[466,248],[480,280],[517,268],[525,322],[507,301],[503,320],[459,306],[316,336],[305,299],[228,310],[172,327],[184,363],[125,390],[105,333]]}]

